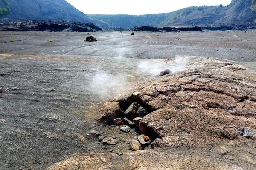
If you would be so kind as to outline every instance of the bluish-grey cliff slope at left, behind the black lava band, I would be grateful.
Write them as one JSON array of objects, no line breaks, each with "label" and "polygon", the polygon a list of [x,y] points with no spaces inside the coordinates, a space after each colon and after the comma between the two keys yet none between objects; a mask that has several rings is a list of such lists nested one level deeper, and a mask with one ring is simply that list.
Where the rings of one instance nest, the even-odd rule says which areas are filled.
[{"label": "bluish-grey cliff slope at left, behind the black lava band", "polygon": [[11,13],[2,17],[2,21],[69,20],[108,26],[103,21],[88,17],[65,0],[8,0],[8,3]]}]

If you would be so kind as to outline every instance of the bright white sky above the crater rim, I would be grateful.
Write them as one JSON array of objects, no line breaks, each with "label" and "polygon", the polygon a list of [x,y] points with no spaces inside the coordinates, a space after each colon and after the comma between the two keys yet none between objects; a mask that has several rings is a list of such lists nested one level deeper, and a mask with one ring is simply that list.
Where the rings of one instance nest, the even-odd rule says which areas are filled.
[{"label": "bright white sky above the crater rim", "polygon": [[84,14],[158,14],[176,11],[189,6],[226,6],[231,0],[66,0]]}]

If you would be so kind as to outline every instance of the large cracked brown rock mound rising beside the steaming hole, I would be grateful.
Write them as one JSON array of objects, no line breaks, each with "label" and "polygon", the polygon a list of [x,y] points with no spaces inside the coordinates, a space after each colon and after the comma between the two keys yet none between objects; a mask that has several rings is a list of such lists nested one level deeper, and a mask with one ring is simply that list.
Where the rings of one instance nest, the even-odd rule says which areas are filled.
[{"label": "large cracked brown rock mound rising beside the steaming hole", "polygon": [[[130,90],[149,113],[140,121],[140,130],[169,147],[255,142],[255,71],[220,59],[201,58],[197,64],[201,67],[157,77]],[[136,100],[125,96],[131,95],[116,102],[130,101],[122,103],[128,108]]]}]

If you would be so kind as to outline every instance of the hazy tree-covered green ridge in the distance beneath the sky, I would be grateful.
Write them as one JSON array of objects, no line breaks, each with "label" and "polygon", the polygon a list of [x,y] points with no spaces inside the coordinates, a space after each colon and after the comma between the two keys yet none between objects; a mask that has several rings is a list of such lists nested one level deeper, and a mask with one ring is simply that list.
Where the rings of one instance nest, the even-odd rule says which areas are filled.
[{"label": "hazy tree-covered green ridge in the distance beneath the sky", "polygon": [[191,14],[193,11],[207,11],[212,9],[212,13],[215,12],[216,8],[221,6],[190,6],[187,8],[183,8],[177,11],[169,12],[169,13],[161,13],[161,14],[145,14],[145,15],[126,15],[126,14],[118,14],[118,15],[104,15],[104,14],[93,14],[88,15],[96,20],[102,20],[106,23],[119,26],[122,28],[132,28],[134,26],[160,26],[167,25],[172,21],[176,20],[180,17],[186,17]]}]

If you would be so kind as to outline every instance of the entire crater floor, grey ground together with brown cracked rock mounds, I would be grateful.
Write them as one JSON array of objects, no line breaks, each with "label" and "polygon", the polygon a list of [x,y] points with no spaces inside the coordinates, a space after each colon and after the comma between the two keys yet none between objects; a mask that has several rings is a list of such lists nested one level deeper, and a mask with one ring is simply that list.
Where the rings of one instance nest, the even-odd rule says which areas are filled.
[{"label": "entire crater floor, grey ground together with brown cracked rock mounds", "polygon": [[0,169],[256,169],[253,30],[0,34]]}]

